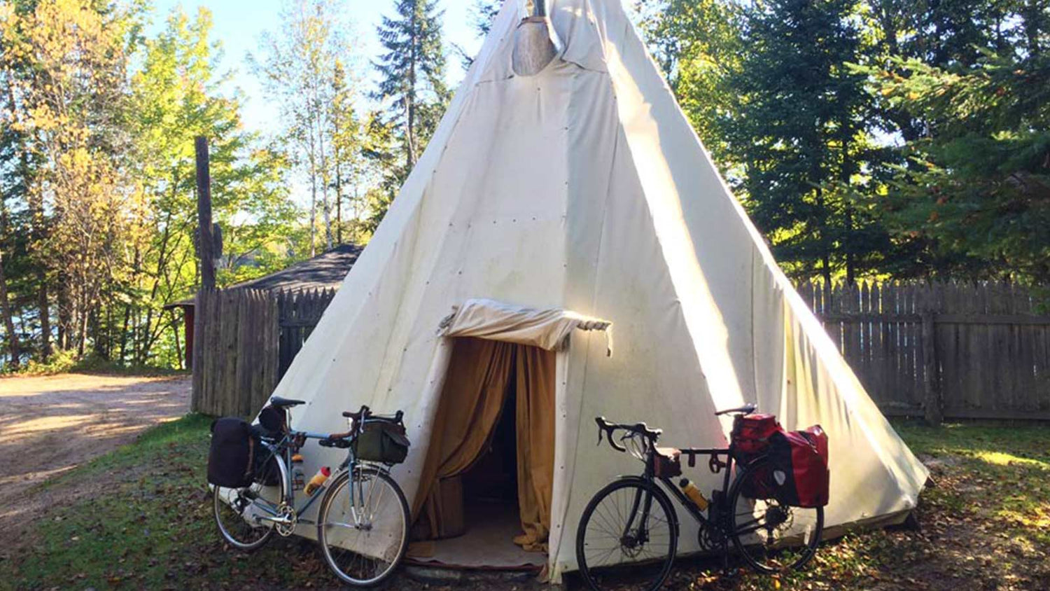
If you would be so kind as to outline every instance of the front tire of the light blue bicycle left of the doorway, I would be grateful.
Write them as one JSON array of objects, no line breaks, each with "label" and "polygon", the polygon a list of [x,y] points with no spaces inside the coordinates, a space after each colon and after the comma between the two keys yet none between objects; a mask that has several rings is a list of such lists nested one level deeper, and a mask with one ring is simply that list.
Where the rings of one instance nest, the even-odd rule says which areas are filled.
[{"label": "front tire of the light blue bicycle left of the doorway", "polygon": [[[373,482],[382,482],[384,486],[388,486],[390,490],[395,494],[396,504],[391,512],[397,510],[400,513],[401,524],[400,526],[393,525],[392,527],[386,528],[385,531],[393,532],[396,529],[400,532],[401,539],[400,542],[395,542],[397,544],[396,548],[391,546],[382,552],[384,555],[388,555],[391,560],[384,561],[387,564],[378,574],[369,577],[359,577],[354,573],[346,572],[348,569],[340,566],[336,561],[336,557],[333,555],[334,547],[339,550],[340,553],[362,556],[361,553],[352,552],[343,546],[336,546],[334,544],[330,545],[328,528],[326,527],[326,525],[330,525],[332,523],[329,521],[329,512],[332,510],[339,492],[346,487],[346,483],[350,481],[351,477],[350,471],[344,471],[336,478],[336,480],[332,483],[332,487],[329,488],[328,492],[324,494],[324,499],[321,501],[320,509],[317,511],[317,543],[321,547],[321,554],[324,556],[324,563],[328,565],[333,574],[339,577],[340,581],[356,587],[374,587],[390,577],[390,575],[397,569],[398,565],[400,565],[401,560],[404,558],[405,551],[408,548],[408,527],[411,525],[408,502],[405,500],[404,492],[401,490],[401,487],[398,486],[397,482],[385,471],[373,467],[358,466],[354,469],[354,473],[355,478],[358,479],[356,482],[359,484],[364,482],[365,478],[372,478],[375,479]],[[370,488],[369,503],[371,503],[371,493],[374,490],[375,488]],[[381,499],[377,500],[376,503],[378,504],[380,501]],[[361,530],[358,529],[358,531]],[[369,531],[371,531],[371,529]],[[382,544],[382,541],[379,540],[379,543]],[[394,549],[393,554],[390,554],[391,549]]]}]

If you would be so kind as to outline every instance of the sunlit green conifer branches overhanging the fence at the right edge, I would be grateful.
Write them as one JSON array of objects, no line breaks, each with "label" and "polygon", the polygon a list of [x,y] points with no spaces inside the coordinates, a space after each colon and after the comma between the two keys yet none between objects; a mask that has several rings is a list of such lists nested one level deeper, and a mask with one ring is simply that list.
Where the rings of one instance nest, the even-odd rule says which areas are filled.
[{"label": "sunlit green conifer branches overhanging the fence at the right edge", "polygon": [[895,58],[865,71],[925,127],[897,167],[892,227],[981,261],[956,274],[1050,281],[1050,55],[985,50],[945,67]]}]

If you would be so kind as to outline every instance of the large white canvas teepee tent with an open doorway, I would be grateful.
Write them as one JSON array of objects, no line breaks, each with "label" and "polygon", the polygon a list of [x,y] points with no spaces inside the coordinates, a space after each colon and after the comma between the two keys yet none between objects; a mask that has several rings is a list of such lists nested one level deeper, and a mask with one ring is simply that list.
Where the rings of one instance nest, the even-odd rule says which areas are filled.
[{"label": "large white canvas teepee tent with an open doorway", "polygon": [[[498,343],[526,347],[517,359],[528,352],[531,368],[519,365],[518,379],[540,378],[519,381],[519,399],[531,388],[532,405],[523,419],[519,402],[519,432],[532,436],[519,438],[532,446],[519,459],[532,453],[539,468],[519,471],[519,491],[531,497],[532,525],[549,528],[555,578],[575,567],[588,499],[637,470],[594,446],[597,415],[659,426],[667,445],[715,446],[729,425],[713,413],[757,402],[786,428],[820,423],[830,435],[828,526],[912,508],[925,468],[777,268],[620,0],[550,0],[556,58],[532,76],[512,69],[519,1],[505,3],[278,385],[275,394],[309,401],[296,426],[341,430],[339,411],[362,403],[403,409],[414,446],[394,476],[425,512],[435,474],[472,462],[487,436],[479,445],[470,434],[490,431],[499,415],[481,395],[449,397],[491,379],[470,372],[496,363]],[[308,470],[338,461],[324,453],[311,449]],[[682,524],[680,550],[695,549]]]}]

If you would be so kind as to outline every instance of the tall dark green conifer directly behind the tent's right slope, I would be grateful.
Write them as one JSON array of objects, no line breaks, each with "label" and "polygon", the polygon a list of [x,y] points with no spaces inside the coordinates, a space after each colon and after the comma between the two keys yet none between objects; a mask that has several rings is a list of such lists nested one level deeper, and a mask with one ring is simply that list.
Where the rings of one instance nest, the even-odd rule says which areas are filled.
[{"label": "tall dark green conifer directly behind the tent's right slope", "polygon": [[858,206],[877,153],[864,77],[845,65],[862,51],[854,9],[852,0],[752,5],[729,81],[738,107],[722,122],[755,224],[791,273],[828,282],[840,271],[853,281],[888,248]]}]

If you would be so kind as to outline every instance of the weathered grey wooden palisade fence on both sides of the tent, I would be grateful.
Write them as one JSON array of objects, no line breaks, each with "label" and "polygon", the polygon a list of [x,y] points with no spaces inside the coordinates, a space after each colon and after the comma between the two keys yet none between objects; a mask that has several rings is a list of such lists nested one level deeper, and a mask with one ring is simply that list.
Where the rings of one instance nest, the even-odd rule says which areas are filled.
[{"label": "weathered grey wooden palisade fence on both sides of the tent", "polygon": [[[861,383],[888,416],[1050,420],[1050,316],[1005,283],[803,283]],[[192,408],[258,410],[334,290],[202,292]]]}]

